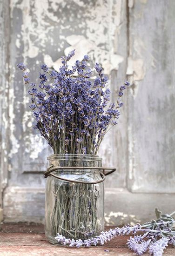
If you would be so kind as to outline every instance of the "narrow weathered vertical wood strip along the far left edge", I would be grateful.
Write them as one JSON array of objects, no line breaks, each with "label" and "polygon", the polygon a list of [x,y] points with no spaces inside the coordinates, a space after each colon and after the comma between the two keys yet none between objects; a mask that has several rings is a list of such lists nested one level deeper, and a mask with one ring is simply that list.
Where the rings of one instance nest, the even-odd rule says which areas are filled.
[{"label": "narrow weathered vertical wood strip along the far left edge", "polygon": [[0,1],[0,208],[8,182],[9,0]]}]

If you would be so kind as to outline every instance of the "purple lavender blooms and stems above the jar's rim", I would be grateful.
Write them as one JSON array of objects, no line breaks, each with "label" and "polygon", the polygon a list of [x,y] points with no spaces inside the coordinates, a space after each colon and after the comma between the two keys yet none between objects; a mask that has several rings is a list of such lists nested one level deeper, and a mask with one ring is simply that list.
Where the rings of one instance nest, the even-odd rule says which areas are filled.
[{"label": "purple lavender blooms and stems above the jar's rim", "polygon": [[[95,70],[98,77],[92,82],[92,71],[87,68],[88,55],[82,61],[76,61],[72,69],[67,62],[74,56],[74,50],[62,57],[60,72],[49,72],[47,65],[42,65],[40,85],[29,85],[26,66],[17,66],[24,71],[24,82],[32,96],[30,108],[34,112],[36,125],[54,154],[97,154],[105,134],[117,124],[123,103],[120,97],[129,85],[128,81],[120,87],[116,104],[110,101],[108,78],[102,73],[98,63]],[[46,74],[53,84],[48,83]]]}]

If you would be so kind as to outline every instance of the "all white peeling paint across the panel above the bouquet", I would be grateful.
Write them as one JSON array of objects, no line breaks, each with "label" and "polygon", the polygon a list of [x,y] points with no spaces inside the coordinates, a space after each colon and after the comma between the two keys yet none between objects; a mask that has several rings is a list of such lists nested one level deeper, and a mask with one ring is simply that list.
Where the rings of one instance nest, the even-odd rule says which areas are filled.
[{"label": "all white peeling paint across the panel above the bouquet", "polygon": [[[51,7],[54,8],[54,11],[58,10],[59,7],[64,8],[66,6],[66,3],[67,2],[64,3],[60,0],[52,0],[50,2]],[[81,0],[76,0],[75,3],[80,7],[84,6],[84,2]],[[104,8],[101,8],[101,5],[103,5]],[[49,6],[47,0],[37,0],[34,2],[27,0],[20,3],[18,0],[11,0],[10,7],[12,18],[14,7],[19,8],[22,11],[23,25],[21,27],[21,36],[22,40],[24,41],[24,62],[27,56],[30,58],[35,58],[40,52],[39,48],[35,45],[35,41],[32,40],[34,36],[37,38],[38,41],[40,40],[40,47],[45,47],[48,32],[53,30],[53,26],[50,26],[50,24],[48,24],[48,20],[52,20],[55,22],[55,24],[59,24],[59,39],[60,41],[62,41],[60,42],[58,50],[63,47],[63,40],[65,40],[65,36],[61,32],[66,27],[64,24],[61,24],[62,20],[59,20],[57,16],[54,16],[54,13],[52,13],[51,15],[51,13],[48,12]],[[111,42],[116,42],[117,34],[120,33],[121,7],[121,0],[113,2],[109,1],[108,3],[98,0],[95,4],[94,9],[92,9],[91,12],[86,13],[86,19],[82,20],[81,26],[87,27],[86,38],[81,34],[72,34],[68,36],[66,40],[71,47],[67,47],[65,49],[65,54],[67,54],[73,48],[76,48],[75,58],[81,60],[83,57],[82,55],[88,54],[90,52],[90,58],[95,59],[97,62],[101,63],[102,66],[104,65],[103,68],[105,69],[105,73],[107,75],[110,75],[111,70],[117,70],[119,64],[123,61],[123,57],[120,54],[116,53],[116,43],[114,45]],[[32,16],[30,13],[31,8],[33,8],[34,10],[33,17],[34,19],[36,19],[36,22],[33,22],[32,20]],[[77,13],[77,18],[78,15],[79,13]],[[46,17],[48,17],[49,19],[46,19]],[[70,24],[67,25],[67,29],[71,29]],[[104,30],[106,30],[105,33]],[[51,42],[51,45],[52,44],[54,44],[54,42]],[[99,47],[100,44],[105,44],[108,49],[106,50],[104,46]],[[19,47],[19,45],[19,41],[17,41],[17,47]],[[114,47],[116,53],[115,55],[113,50]],[[44,56],[44,59],[45,64],[50,67],[54,67],[54,69],[56,70],[58,70],[61,66],[60,59],[58,59],[57,61],[52,61],[52,58],[49,58],[46,55]],[[72,58],[69,65],[74,65],[74,61],[76,59]]]}]

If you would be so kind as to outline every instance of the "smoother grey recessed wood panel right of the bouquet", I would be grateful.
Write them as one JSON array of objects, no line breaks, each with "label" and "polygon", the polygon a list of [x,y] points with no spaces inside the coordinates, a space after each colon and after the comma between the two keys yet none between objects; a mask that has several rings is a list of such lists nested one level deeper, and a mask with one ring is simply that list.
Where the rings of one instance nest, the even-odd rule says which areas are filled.
[{"label": "smoother grey recessed wood panel right of the bouquet", "polygon": [[[156,7],[156,12],[155,12]],[[129,11],[127,74],[132,192],[175,193],[174,1],[135,1]]]}]

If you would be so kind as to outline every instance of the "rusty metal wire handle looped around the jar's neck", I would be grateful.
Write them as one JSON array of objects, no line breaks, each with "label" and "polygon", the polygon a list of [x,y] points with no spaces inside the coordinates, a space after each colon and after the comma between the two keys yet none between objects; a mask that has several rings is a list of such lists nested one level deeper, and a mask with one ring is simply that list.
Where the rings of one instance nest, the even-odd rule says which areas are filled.
[{"label": "rusty metal wire handle looped around the jar's neck", "polygon": [[[105,180],[105,176],[110,174],[110,173],[113,173],[116,168],[108,168],[108,167],[76,167],[76,166],[69,166],[69,167],[56,167],[56,168],[53,168],[53,169],[50,169],[52,168],[53,165],[50,165],[48,168],[47,168],[47,171],[44,173],[44,177],[47,178],[47,176],[53,176],[54,178],[57,178],[57,179],[60,179],[60,180],[63,180],[63,181],[67,181],[67,182],[76,182],[76,183],[85,183],[85,184],[96,184],[96,183],[100,183],[100,182],[103,182]],[[69,180],[69,179],[66,179],[66,178],[62,178],[60,176],[57,176],[55,174],[53,174],[52,172],[56,171],[56,170],[61,170],[61,169],[100,169],[100,170],[103,170],[103,172],[100,172],[100,175],[101,175],[101,180],[100,181],[96,181],[96,182],[83,182],[83,181],[73,181],[73,180]],[[111,170],[109,171],[108,173],[104,173],[105,170]]]}]

